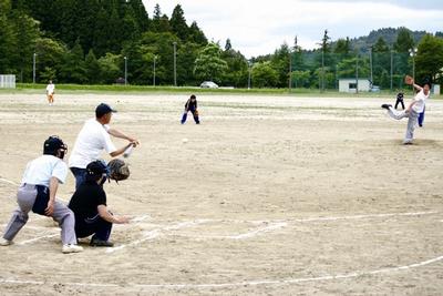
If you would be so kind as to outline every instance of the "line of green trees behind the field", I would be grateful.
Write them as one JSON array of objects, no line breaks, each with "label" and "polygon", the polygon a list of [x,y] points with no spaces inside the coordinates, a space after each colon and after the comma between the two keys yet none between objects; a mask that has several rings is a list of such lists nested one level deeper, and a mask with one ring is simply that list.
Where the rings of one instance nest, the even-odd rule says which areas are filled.
[{"label": "line of green trees behind the field", "polygon": [[441,82],[442,33],[393,30],[381,31],[390,34],[388,42],[371,32],[365,45],[361,39],[332,42],[326,30],[317,50],[303,50],[296,38],[248,60],[229,39],[222,45],[208,41],[197,22],[188,25],[179,4],[171,17],[156,4],[150,17],[142,0],[0,0],[0,73],[19,82],[109,84],[127,73],[128,83],[141,85],[212,80],[236,88],[251,81],[254,88],[333,89],[358,69],[388,88],[412,73],[414,62],[420,79]]}]

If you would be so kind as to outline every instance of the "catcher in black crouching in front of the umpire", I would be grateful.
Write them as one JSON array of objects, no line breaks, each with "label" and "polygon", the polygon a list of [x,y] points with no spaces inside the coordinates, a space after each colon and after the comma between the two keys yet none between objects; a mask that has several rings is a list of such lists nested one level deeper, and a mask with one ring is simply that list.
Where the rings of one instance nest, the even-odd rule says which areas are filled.
[{"label": "catcher in black crouching in front of the umpire", "polygon": [[128,223],[127,217],[114,216],[106,206],[106,193],[103,184],[107,180],[107,166],[104,161],[94,161],[86,166],[85,182],[71,198],[69,207],[75,215],[75,234],[78,237],[91,237],[91,246],[107,246],[111,243],[112,224]]}]

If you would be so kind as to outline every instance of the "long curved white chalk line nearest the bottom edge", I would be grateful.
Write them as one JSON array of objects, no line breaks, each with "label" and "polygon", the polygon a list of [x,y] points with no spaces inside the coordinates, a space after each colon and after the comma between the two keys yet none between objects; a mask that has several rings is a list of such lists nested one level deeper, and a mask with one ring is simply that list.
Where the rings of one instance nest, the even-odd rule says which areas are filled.
[{"label": "long curved white chalk line nearest the bottom edge", "polygon": [[347,279],[347,278],[357,278],[361,276],[371,276],[378,274],[390,274],[395,272],[403,272],[412,268],[423,267],[433,263],[437,263],[443,261],[443,256],[439,256],[435,258],[431,258],[427,261],[413,263],[410,265],[403,265],[398,267],[382,268],[369,272],[352,272],[348,274],[338,274],[338,275],[327,275],[327,276],[317,276],[317,277],[298,277],[298,278],[287,278],[287,279],[264,279],[264,280],[244,280],[238,283],[208,283],[208,284],[135,284],[128,283],[126,285],[117,285],[117,284],[95,284],[95,283],[56,283],[56,282],[42,282],[42,280],[19,280],[19,279],[2,279],[0,278],[0,285],[64,285],[64,286],[78,286],[78,287],[100,287],[100,288],[138,288],[138,289],[153,289],[153,288],[185,288],[185,289],[195,289],[195,288],[227,288],[227,287],[239,287],[239,286],[260,286],[260,285],[289,285],[289,284],[298,284],[306,282],[326,282],[326,280],[336,280],[336,279]]}]

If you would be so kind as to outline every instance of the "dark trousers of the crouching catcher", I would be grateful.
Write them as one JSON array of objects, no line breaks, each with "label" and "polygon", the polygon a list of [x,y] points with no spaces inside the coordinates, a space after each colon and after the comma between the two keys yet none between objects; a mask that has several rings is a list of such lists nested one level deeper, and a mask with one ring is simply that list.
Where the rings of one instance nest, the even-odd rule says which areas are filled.
[{"label": "dark trousers of the crouching catcher", "polygon": [[103,220],[99,214],[91,218],[75,217],[75,235],[78,237],[93,235],[91,239],[107,241],[111,236],[111,229],[112,223]]}]

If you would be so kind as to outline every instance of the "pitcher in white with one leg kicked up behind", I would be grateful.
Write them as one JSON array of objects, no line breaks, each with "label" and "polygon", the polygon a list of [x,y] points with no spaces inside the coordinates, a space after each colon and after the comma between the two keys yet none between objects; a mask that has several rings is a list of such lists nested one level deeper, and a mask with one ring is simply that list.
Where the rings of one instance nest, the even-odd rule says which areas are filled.
[{"label": "pitcher in white with one leg kicked up behind", "polygon": [[412,144],[413,137],[414,137],[414,130],[415,130],[415,124],[418,123],[418,118],[419,114],[424,111],[424,106],[426,104],[426,100],[430,96],[430,89],[431,89],[431,83],[425,82],[423,88],[415,84],[414,79],[411,76],[405,78],[406,84],[411,84],[419,92],[415,94],[414,100],[410,105],[408,106],[406,110],[404,111],[396,111],[395,109],[392,108],[390,104],[382,104],[381,108],[384,108],[388,110],[388,114],[395,120],[401,120],[404,118],[408,118],[408,127],[406,127],[406,134],[403,140],[403,144]]}]

